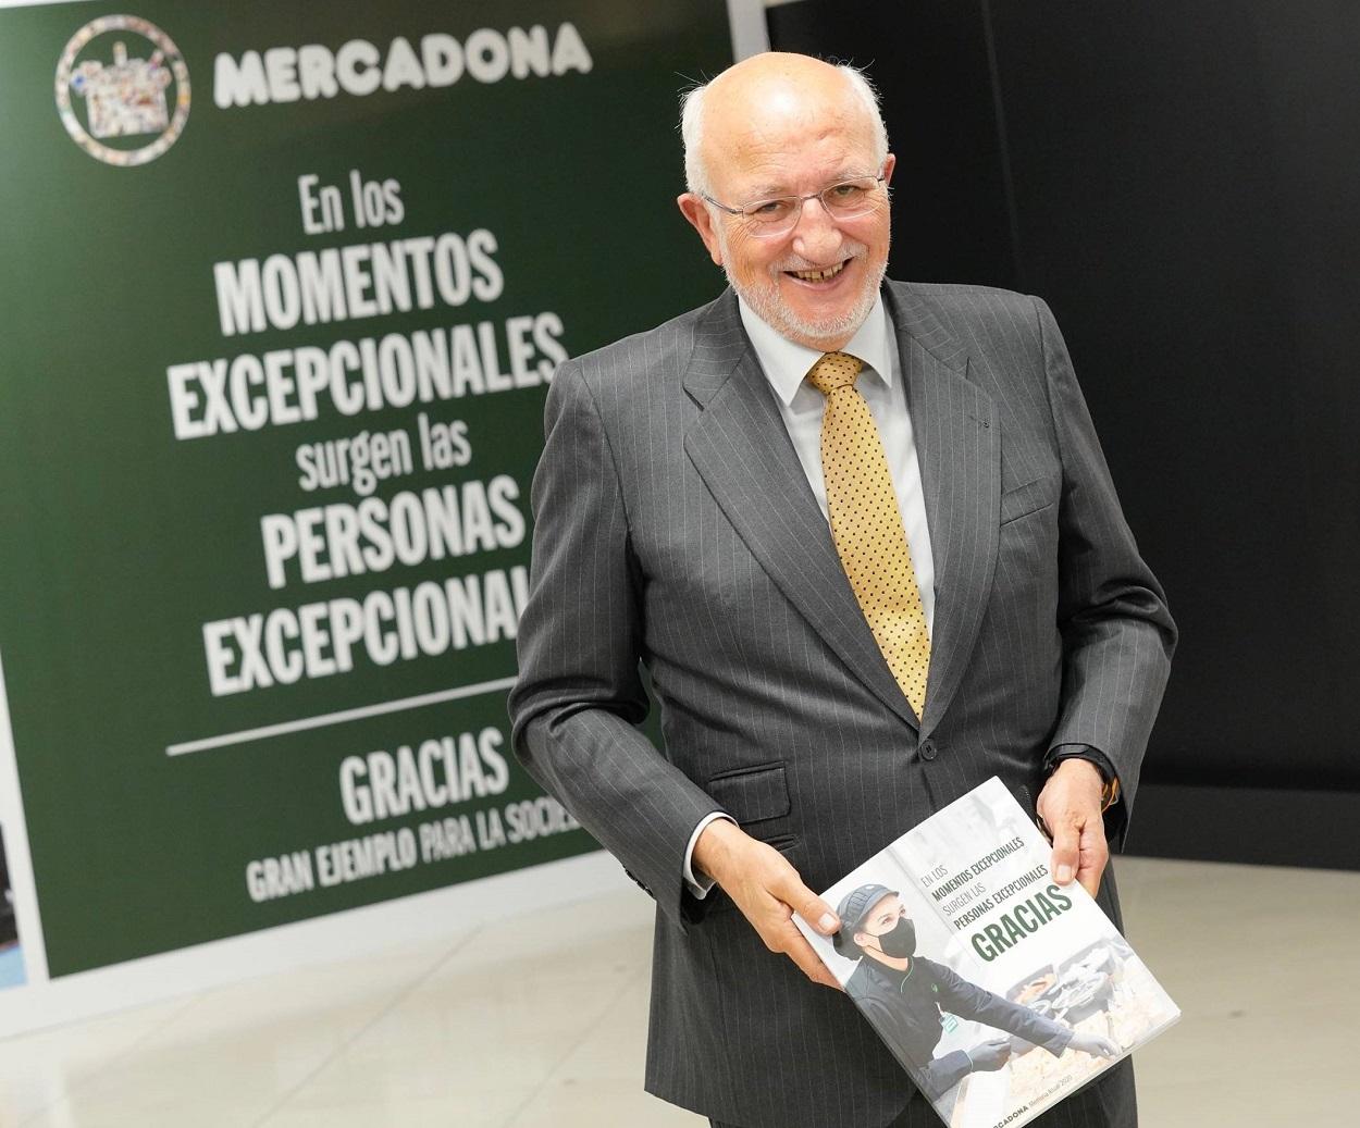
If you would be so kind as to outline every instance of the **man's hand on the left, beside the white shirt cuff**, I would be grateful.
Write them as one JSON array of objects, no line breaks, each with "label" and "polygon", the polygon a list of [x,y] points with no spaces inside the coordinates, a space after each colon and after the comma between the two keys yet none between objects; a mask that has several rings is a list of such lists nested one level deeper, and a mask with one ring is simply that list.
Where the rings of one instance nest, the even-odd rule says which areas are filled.
[{"label": "man's hand on the left, beside the white shirt cuff", "polygon": [[694,844],[694,864],[713,878],[741,909],[770,951],[782,951],[808,979],[840,989],[793,923],[797,912],[824,936],[840,927],[830,905],[802,883],[779,851],[725,818],[703,828]]}]

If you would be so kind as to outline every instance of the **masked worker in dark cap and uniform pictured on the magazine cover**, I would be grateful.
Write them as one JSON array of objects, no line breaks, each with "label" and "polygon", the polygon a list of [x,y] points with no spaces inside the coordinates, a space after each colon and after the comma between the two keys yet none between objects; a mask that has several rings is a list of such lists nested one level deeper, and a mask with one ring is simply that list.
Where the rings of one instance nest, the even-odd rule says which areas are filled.
[{"label": "masked worker in dark cap and uniform pictured on the magazine cover", "polygon": [[936,1057],[941,1011],[982,1022],[1043,1046],[1058,1056],[1077,1049],[1096,1057],[1118,1057],[1110,1038],[1078,1034],[1061,1022],[1012,1003],[952,969],[917,955],[917,930],[900,896],[885,885],[861,885],[840,901],[838,953],[860,965],[846,981],[846,993],[873,1022],[921,1082],[938,1099],[968,1074],[1000,1070],[1010,1056],[1010,1040],[989,1040],[971,1049]]}]

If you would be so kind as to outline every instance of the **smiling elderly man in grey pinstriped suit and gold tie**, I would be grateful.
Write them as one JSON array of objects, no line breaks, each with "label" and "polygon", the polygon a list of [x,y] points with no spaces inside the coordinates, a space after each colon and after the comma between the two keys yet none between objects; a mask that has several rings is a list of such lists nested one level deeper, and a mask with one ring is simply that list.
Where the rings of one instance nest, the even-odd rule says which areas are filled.
[{"label": "smiling elderly man in grey pinstriped suit and gold tie", "polygon": [[[815,889],[996,775],[1118,921],[1106,818],[1175,628],[1043,302],[883,280],[864,79],[756,56],[683,132],[680,211],[730,288],[554,379],[514,745],[656,898],[649,1091],[923,1128],[790,915],[835,932]],[[1132,1071],[1035,1123],[1133,1125]]]}]

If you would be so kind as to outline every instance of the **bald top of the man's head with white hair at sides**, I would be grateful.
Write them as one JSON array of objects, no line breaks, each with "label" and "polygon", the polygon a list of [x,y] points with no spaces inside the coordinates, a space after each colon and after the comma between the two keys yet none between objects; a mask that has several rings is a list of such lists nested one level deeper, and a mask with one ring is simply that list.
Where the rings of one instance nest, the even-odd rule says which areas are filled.
[{"label": "bald top of the man's head with white hair at sides", "polygon": [[831,130],[868,139],[879,164],[888,154],[877,96],[860,71],[806,54],[751,56],[684,96],[685,181],[714,196],[733,158]]}]

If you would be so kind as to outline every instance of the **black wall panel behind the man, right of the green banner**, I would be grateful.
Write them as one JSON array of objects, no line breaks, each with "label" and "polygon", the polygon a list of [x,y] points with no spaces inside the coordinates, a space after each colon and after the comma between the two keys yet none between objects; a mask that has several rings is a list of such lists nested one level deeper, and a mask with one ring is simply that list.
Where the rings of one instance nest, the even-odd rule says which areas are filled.
[{"label": "black wall panel behind the man, right of the green banner", "polygon": [[[1219,809],[1291,790],[1300,834],[1304,792],[1340,792],[1310,828],[1340,841],[1337,811],[1360,813],[1360,5],[854,11],[772,8],[771,39],[883,88],[903,155],[892,272],[1050,302],[1171,597],[1183,641],[1145,795],[1176,788],[1183,821],[1186,788]],[[1156,806],[1136,847],[1236,856],[1231,818],[1206,837]]]}]

